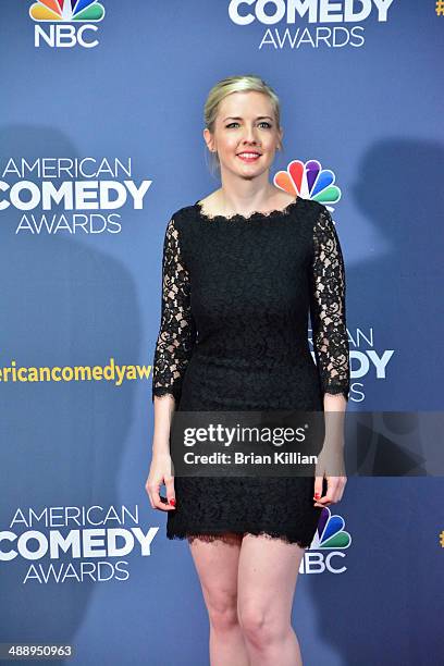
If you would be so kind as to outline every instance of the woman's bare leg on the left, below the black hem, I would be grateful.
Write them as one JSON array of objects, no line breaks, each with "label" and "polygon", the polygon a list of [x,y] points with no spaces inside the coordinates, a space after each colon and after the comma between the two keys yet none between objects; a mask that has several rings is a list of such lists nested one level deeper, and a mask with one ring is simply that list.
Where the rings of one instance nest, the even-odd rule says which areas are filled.
[{"label": "woman's bare leg on the left, below the black hem", "polygon": [[210,620],[211,666],[249,666],[237,618],[237,566],[242,534],[189,541]]}]

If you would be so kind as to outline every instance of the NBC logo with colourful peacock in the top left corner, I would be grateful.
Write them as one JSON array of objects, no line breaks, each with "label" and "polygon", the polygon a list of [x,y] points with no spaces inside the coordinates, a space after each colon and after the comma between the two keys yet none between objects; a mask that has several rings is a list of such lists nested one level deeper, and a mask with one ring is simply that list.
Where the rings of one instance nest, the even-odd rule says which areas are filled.
[{"label": "NBC logo with colourful peacock in the top left corner", "polygon": [[87,40],[87,33],[97,33],[94,24],[102,21],[104,9],[97,0],[38,0],[30,5],[29,16],[36,22],[35,47],[45,42],[52,48],[90,49],[99,42]]}]

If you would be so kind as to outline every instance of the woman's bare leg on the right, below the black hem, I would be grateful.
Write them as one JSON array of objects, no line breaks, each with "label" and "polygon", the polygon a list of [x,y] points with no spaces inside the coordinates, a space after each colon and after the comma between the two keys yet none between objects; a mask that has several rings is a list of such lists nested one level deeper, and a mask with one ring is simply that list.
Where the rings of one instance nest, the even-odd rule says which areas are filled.
[{"label": "woman's bare leg on the right, below the black hem", "polygon": [[279,539],[244,536],[238,565],[238,618],[251,664],[301,666],[292,627],[304,548]]}]

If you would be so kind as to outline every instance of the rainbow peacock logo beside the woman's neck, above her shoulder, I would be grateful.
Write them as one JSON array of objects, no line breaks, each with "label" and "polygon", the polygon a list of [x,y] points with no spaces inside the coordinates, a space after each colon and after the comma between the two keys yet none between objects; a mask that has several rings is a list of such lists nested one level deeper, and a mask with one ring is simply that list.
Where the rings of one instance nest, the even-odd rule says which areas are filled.
[{"label": "rainbow peacock logo beside the woman's neck, above her shoulder", "polygon": [[285,171],[278,171],[273,182],[288,194],[323,203],[331,212],[341,199],[341,189],[335,185],[335,175],[322,169],[318,160],[293,160]]}]

